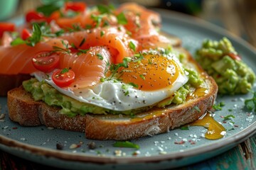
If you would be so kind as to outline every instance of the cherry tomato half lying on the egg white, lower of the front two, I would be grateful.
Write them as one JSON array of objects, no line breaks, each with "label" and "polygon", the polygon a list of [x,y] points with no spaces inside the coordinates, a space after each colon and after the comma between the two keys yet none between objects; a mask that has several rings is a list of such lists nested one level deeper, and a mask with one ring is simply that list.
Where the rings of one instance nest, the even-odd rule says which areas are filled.
[{"label": "cherry tomato half lying on the egg white, lower of the front two", "polygon": [[75,81],[75,72],[71,69],[57,69],[53,72],[52,79],[59,87],[70,86]]}]

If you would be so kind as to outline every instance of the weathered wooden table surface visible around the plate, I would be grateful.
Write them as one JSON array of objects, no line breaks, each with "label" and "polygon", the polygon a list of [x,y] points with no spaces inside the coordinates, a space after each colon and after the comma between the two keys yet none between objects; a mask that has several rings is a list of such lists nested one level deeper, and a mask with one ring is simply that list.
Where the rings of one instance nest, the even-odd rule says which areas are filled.
[{"label": "weathered wooden table surface visible around the plate", "polygon": [[[33,8],[36,4],[38,1],[20,1],[17,15]],[[247,40],[256,47],[256,1],[206,0],[203,1],[202,11],[196,16],[229,30],[233,35]],[[0,170],[50,169],[49,166],[30,162],[1,151],[0,164]],[[228,152],[179,169],[256,169],[256,134]]]}]

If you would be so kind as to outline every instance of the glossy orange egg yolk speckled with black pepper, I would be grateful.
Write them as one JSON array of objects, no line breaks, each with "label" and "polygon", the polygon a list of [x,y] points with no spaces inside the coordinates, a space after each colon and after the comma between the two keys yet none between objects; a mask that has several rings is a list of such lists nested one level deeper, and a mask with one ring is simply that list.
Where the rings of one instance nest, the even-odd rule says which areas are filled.
[{"label": "glossy orange egg yolk speckled with black pepper", "polygon": [[161,55],[144,55],[142,60],[128,63],[119,77],[126,84],[133,83],[142,91],[154,91],[172,86],[178,78],[179,67],[174,60]]}]

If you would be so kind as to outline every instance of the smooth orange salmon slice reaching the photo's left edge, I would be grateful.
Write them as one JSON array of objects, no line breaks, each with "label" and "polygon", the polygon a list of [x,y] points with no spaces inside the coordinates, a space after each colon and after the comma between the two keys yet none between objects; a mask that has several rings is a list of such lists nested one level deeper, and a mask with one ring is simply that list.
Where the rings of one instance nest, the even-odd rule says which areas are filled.
[{"label": "smooth orange salmon slice reaching the photo's left edge", "polygon": [[63,47],[58,38],[49,39],[46,42],[39,42],[35,47],[28,45],[0,46],[0,74],[31,74],[36,72],[31,59],[38,52],[52,51],[53,46]]}]

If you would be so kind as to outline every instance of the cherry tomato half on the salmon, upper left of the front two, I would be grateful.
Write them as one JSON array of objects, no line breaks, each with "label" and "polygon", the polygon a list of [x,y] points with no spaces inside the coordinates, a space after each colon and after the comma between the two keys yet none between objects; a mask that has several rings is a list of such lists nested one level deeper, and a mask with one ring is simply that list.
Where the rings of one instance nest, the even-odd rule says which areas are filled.
[{"label": "cherry tomato half on the salmon, upper left of the front two", "polygon": [[58,68],[60,56],[55,52],[38,52],[32,58],[33,66],[41,72],[51,72]]}]

